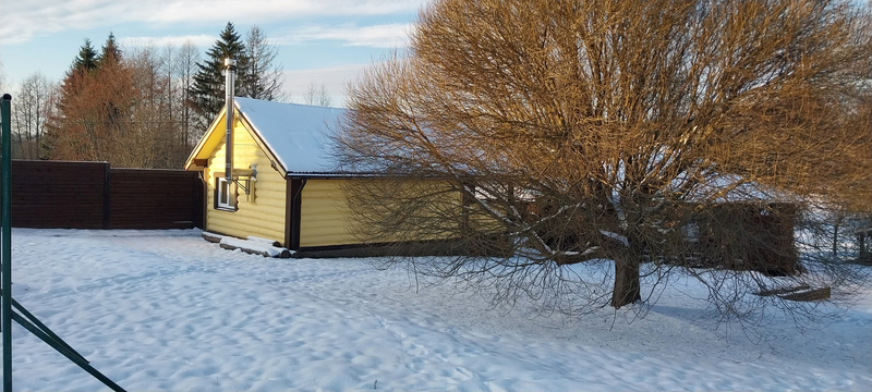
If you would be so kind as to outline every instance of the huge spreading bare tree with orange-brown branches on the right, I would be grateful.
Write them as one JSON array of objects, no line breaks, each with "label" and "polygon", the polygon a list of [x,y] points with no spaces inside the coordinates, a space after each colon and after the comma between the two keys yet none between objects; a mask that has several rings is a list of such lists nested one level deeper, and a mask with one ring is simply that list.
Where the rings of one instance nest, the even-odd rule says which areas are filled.
[{"label": "huge spreading bare tree with orange-brown branches on the right", "polygon": [[794,228],[815,200],[872,198],[847,185],[870,170],[851,121],[870,20],[850,1],[434,1],[408,56],[349,88],[340,169],[395,179],[347,189],[355,231],[459,240],[467,256],[391,262],[545,308],[618,308],[680,270],[720,317],[804,313],[747,294],[857,282]]}]

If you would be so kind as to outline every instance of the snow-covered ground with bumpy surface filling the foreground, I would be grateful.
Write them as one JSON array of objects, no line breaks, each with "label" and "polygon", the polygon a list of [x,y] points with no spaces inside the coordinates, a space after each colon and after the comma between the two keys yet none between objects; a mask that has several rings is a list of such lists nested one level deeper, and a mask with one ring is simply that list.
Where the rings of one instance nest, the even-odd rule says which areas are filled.
[{"label": "snow-covered ground with bumpy surface filling the foreground", "polygon": [[[190,231],[13,231],[13,295],[129,391],[872,391],[872,299],[765,342],[667,290],[581,321],[415,292],[363,259],[266,259]],[[617,317],[617,319],[615,319]],[[17,324],[17,391],[107,390]]]}]

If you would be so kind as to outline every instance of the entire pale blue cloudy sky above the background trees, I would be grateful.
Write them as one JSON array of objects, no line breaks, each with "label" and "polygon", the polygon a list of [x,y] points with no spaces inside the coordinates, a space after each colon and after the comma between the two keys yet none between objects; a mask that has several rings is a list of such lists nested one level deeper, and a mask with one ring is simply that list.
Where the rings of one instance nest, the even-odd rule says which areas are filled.
[{"label": "entire pale blue cloudy sky above the background trees", "polygon": [[278,45],[292,100],[324,83],[342,102],[349,81],[402,48],[426,0],[3,0],[0,64],[5,89],[36,71],[59,81],[85,38],[95,47],[112,32],[122,46],[191,39],[205,52],[227,22],[243,36],[258,25]]}]

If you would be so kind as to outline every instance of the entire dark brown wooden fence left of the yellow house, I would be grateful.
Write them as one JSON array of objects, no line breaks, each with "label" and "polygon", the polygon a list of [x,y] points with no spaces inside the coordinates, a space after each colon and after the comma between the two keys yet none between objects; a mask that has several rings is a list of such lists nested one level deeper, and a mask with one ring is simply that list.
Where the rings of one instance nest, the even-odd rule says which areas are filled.
[{"label": "entire dark brown wooden fence left of the yellow house", "polygon": [[182,170],[106,162],[12,161],[12,225],[38,229],[203,228],[203,182]]}]

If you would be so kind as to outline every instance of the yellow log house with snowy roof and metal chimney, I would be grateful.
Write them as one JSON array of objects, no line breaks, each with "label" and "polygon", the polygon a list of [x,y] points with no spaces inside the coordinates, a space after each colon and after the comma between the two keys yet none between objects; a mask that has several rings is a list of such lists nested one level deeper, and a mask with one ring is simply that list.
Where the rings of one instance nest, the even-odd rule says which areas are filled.
[{"label": "yellow log house with snowy roof and metal chimney", "polygon": [[239,238],[256,236],[290,250],[355,245],[339,188],[351,176],[332,170],[329,131],[344,109],[233,99],[232,173],[226,164],[226,109],[194,148],[184,169],[207,184],[204,228]]}]

